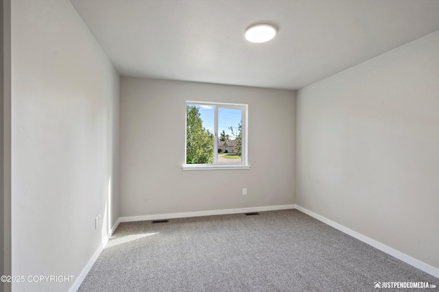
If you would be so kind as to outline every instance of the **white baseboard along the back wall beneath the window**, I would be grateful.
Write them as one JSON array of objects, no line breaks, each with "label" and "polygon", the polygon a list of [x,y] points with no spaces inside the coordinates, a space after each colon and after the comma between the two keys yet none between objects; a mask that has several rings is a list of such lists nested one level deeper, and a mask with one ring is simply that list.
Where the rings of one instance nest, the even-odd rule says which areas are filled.
[{"label": "white baseboard along the back wall beneath the window", "polygon": [[128,217],[120,217],[119,219],[120,222],[148,221],[148,220],[161,220],[161,219],[174,219],[174,218],[187,218],[187,217],[201,217],[201,216],[211,216],[211,215],[228,215],[228,214],[238,214],[238,213],[246,213],[246,212],[286,210],[286,209],[294,209],[294,207],[295,205],[291,204],[291,205],[263,206],[263,207],[237,208],[237,209],[224,209],[224,210],[209,210],[209,211],[198,211],[198,212],[128,216]]}]

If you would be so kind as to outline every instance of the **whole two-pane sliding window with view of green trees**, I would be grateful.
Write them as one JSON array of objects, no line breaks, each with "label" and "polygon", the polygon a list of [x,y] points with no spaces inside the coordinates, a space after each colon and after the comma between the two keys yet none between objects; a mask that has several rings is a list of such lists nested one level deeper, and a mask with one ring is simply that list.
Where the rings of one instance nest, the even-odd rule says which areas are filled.
[{"label": "whole two-pane sliding window with view of green trees", "polygon": [[246,104],[186,101],[185,170],[249,169]]}]

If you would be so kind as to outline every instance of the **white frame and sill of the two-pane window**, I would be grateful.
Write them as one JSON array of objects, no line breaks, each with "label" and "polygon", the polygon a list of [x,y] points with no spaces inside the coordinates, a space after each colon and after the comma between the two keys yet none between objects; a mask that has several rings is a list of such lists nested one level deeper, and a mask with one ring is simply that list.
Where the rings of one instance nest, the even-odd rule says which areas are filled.
[{"label": "white frame and sill of the two-pane window", "polygon": [[[212,165],[187,165],[186,149],[187,149],[187,114],[186,108],[188,104],[200,106],[214,106],[214,127],[213,130],[213,164]],[[242,110],[241,117],[241,161],[240,162],[218,162],[218,108],[239,108]],[[206,101],[186,101],[185,102],[185,163],[182,165],[183,170],[217,170],[217,169],[250,169],[248,165],[248,104],[228,104],[222,102],[206,102]]]}]

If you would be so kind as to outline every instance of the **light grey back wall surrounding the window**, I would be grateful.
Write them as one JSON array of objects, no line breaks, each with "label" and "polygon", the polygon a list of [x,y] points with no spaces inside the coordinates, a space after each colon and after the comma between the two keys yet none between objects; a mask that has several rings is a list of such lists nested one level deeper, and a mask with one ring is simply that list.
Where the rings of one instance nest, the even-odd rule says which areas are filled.
[{"label": "light grey back wall surrounding the window", "polygon": [[[251,169],[182,171],[186,100],[248,104]],[[121,216],[294,204],[295,106],[288,90],[122,77]]]}]

